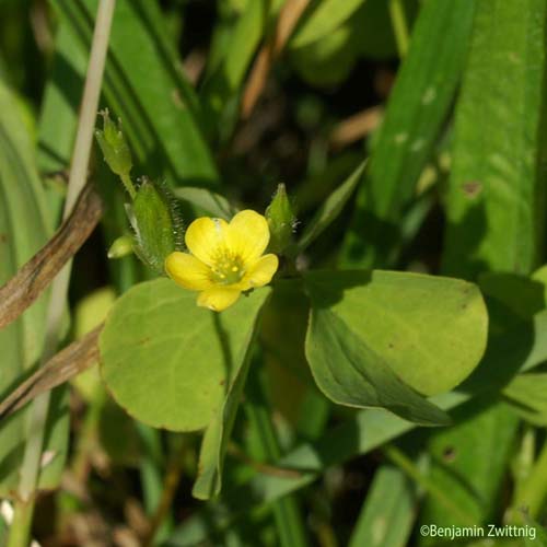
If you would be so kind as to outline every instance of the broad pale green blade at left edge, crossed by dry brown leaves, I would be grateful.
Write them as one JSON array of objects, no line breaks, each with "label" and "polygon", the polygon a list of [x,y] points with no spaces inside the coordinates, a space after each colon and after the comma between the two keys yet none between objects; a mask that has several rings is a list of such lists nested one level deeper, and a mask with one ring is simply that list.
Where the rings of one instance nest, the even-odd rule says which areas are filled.
[{"label": "broad pale green blade at left edge, crossed by dry brown leaves", "polygon": [[[0,82],[0,283],[37,252],[53,231],[44,187],[34,164],[31,138],[14,95]],[[0,330],[0,393],[7,394],[39,358],[45,334],[46,299],[40,296],[22,316]],[[43,469],[39,485],[55,488],[67,452],[68,420],[59,392],[47,424],[46,451],[55,458]],[[10,497],[19,480],[25,442],[26,412],[0,427],[0,496]]]}]

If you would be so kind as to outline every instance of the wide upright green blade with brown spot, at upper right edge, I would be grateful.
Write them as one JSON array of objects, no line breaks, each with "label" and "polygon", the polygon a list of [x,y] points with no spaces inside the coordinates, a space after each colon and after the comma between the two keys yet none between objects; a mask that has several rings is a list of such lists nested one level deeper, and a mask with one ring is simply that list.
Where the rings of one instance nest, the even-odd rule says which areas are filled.
[{"label": "wide upright green blade with brown spot, at upper right edge", "polygon": [[446,201],[443,269],[529,274],[545,196],[545,0],[480,0]]}]

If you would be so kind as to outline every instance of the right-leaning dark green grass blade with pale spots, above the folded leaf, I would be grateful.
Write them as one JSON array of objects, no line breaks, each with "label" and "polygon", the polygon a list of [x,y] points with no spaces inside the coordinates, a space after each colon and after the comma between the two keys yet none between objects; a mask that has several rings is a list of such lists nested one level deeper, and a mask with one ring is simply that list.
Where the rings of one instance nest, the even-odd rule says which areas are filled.
[{"label": "right-leaning dark green grass blade with pale spots, above the folded leaf", "polygon": [[427,2],[415,24],[357,198],[341,253],[345,266],[393,263],[399,223],[459,82],[475,2]]}]

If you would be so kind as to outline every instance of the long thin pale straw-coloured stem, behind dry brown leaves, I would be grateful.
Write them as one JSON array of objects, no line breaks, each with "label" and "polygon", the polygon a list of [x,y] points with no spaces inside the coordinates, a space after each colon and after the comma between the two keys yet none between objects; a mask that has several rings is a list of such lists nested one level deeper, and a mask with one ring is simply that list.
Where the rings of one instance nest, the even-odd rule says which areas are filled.
[{"label": "long thin pale straw-coloured stem, behind dry brown leaves", "polygon": [[[70,168],[63,220],[71,213],[80,191],[88,178],[93,128],[101,95],[108,38],[116,0],[101,0],[97,10],[90,63],[83,90],[80,120],[75,136]],[[67,300],[71,263],[68,263],[51,283],[51,295],[46,315],[46,333],[40,364],[56,351],[62,314]],[[49,392],[37,397],[30,410],[27,443],[21,467],[21,479],[15,503],[15,514],[10,529],[9,547],[25,547],[28,544],[30,527],[34,511],[34,496],[38,484],[45,427],[49,408]]]}]

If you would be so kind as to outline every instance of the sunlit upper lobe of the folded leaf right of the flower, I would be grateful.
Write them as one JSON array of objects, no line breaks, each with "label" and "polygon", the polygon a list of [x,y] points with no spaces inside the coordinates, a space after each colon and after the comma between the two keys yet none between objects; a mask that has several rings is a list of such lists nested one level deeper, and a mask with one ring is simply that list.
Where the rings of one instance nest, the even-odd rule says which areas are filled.
[{"label": "sunlit upper lobe of the folded leaf right of the flower", "polygon": [[328,310],[421,394],[452,389],[485,352],[488,315],[473,283],[381,270],[312,272],[305,280],[316,313]]}]

